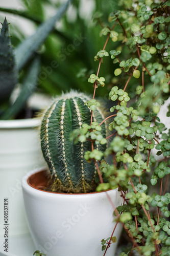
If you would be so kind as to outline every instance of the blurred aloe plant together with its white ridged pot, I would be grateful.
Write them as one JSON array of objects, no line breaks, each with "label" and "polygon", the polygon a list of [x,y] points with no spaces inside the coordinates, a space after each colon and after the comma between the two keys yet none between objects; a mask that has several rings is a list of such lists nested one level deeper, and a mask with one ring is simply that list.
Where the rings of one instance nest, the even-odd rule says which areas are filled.
[{"label": "blurred aloe plant together with its white ridged pot", "polygon": [[[35,52],[53,30],[57,20],[62,17],[68,4],[69,1],[57,10],[54,17],[42,23],[34,35],[23,40],[15,52],[11,45],[9,24],[6,18],[2,24],[0,35],[0,140],[4,146],[1,148],[0,180],[3,191],[2,200],[8,198],[10,204],[11,236],[29,232],[23,207],[21,177],[32,168],[45,166],[38,140],[37,127],[40,125],[40,120],[32,118],[35,109],[31,110],[27,107],[30,96],[36,90],[40,72],[40,59]],[[30,59],[31,62],[29,62]],[[11,98],[19,82],[19,72],[26,64],[29,68],[24,79],[20,81],[21,90]],[[55,65],[55,63],[53,64]],[[0,212],[3,215],[3,202]],[[3,225],[3,219],[0,223]],[[0,231],[0,236],[4,237],[3,229]]]}]

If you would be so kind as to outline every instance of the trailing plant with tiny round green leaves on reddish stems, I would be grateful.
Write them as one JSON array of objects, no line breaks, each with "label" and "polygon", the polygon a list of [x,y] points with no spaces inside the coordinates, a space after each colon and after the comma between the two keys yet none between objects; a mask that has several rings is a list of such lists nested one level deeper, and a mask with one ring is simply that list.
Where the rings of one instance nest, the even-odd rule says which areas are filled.
[{"label": "trailing plant with tiny round green leaves on reddish stems", "polygon": [[[114,117],[114,120],[109,124],[109,130],[113,132],[106,138],[112,138],[112,141],[104,152],[100,150],[96,152],[92,146],[90,150],[86,151],[85,159],[89,162],[93,161],[98,170],[101,184],[97,187],[97,191],[114,189],[118,186],[120,194],[126,202],[114,211],[116,225],[121,223],[125,230],[126,242],[125,239],[122,242],[125,248],[119,255],[131,256],[137,253],[137,255],[144,256],[165,256],[170,253],[170,224],[168,220],[170,216],[168,209],[170,147],[168,127],[160,122],[159,111],[169,98],[170,20],[168,10],[170,2],[122,0],[119,5],[119,10],[114,10],[113,6],[114,11],[109,16],[111,26],[108,24],[105,27],[102,26],[101,35],[106,36],[106,43],[94,57],[95,61],[99,61],[98,71],[91,74],[88,79],[93,84],[94,94],[92,100],[87,100],[87,106],[93,112],[98,104],[94,99],[95,91],[97,87],[104,86],[105,80],[103,77],[99,77],[99,72],[101,72],[102,63],[105,64],[105,59],[110,53],[114,63],[114,76],[109,83],[109,85],[111,84],[109,99],[113,101],[110,111],[114,113],[106,119]],[[100,24],[102,24],[101,21]],[[113,41],[113,50],[108,53],[106,46],[110,38]],[[119,44],[115,49],[117,41]],[[169,107],[167,117],[169,117]],[[95,143],[97,135],[95,136],[94,130],[98,125],[101,126],[100,124],[91,126],[93,125],[91,114],[90,125],[82,126],[81,129],[74,132],[76,140],[79,143],[86,140],[92,144]],[[100,135],[103,138],[103,135]],[[152,153],[155,152],[155,149],[157,150],[156,155]],[[48,154],[48,151],[46,153]],[[103,156],[111,157],[112,162],[102,160]],[[162,156],[162,158],[156,159],[156,156]],[[98,160],[101,161],[100,166],[97,163]],[[52,164],[51,169],[53,169]],[[29,178],[28,182],[30,179],[32,178]],[[32,188],[26,181],[26,178],[23,179],[23,190],[24,196],[28,200],[28,190]],[[90,195],[91,198],[92,195]],[[33,196],[32,199],[35,200]],[[104,204],[105,201],[103,200]],[[34,204],[35,202],[38,200],[35,200]],[[51,208],[54,205],[57,210],[57,205],[54,202],[49,203],[48,207]],[[33,203],[30,203],[31,206]],[[28,205],[26,207],[28,209]],[[39,205],[39,207],[41,206]],[[31,214],[35,224],[33,212],[29,211],[28,214]],[[47,225],[48,220],[44,221]],[[41,221],[39,225],[44,221]],[[54,223],[54,219],[52,222]],[[102,223],[103,220],[101,220],[101,225]],[[64,224],[70,223],[67,223],[66,219]],[[72,226],[74,224],[72,223]],[[70,229],[72,226],[70,224]],[[40,236],[42,236],[42,229],[40,230]],[[112,253],[109,251],[115,242],[113,239],[115,230],[114,227],[109,239],[103,233],[101,248],[104,255]],[[48,232],[48,227],[46,232]],[[38,237],[38,234],[35,234],[34,238]],[[95,236],[97,234],[98,231]],[[62,238],[64,240],[61,232],[56,234],[55,239],[49,235],[47,237],[48,240],[51,240],[49,240],[51,245],[46,244],[49,248],[57,243],[59,245]],[[70,237],[71,242],[75,242],[73,236],[70,235]],[[84,243],[84,240],[81,243]],[[67,245],[64,243],[65,247]],[[123,247],[123,245],[121,246]],[[61,253],[63,251],[61,250]],[[94,255],[90,253],[88,252],[89,255]],[[47,247],[46,254],[51,255]],[[85,254],[87,254],[86,251]]]}]

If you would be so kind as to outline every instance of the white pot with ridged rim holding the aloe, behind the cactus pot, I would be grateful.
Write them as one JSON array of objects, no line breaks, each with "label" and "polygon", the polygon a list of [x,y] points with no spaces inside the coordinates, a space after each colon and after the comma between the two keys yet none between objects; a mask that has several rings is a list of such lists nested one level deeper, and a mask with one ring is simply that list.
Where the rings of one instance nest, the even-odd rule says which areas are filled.
[{"label": "white pot with ridged rim holding the aloe, behind the cactus pot", "polygon": [[[21,178],[33,168],[46,166],[40,147],[38,119],[0,121],[0,226],[4,227],[4,199],[8,199],[11,236],[28,233]],[[0,238],[4,237],[0,228]]]}]

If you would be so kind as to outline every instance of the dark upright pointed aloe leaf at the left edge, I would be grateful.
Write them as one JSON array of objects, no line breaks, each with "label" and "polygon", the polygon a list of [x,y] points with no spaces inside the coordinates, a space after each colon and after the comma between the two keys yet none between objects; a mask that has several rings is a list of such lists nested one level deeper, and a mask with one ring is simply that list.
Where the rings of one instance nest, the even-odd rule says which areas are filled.
[{"label": "dark upright pointed aloe leaf at the left edge", "polygon": [[0,34],[0,101],[7,100],[17,83],[17,71],[9,27],[5,18]]}]

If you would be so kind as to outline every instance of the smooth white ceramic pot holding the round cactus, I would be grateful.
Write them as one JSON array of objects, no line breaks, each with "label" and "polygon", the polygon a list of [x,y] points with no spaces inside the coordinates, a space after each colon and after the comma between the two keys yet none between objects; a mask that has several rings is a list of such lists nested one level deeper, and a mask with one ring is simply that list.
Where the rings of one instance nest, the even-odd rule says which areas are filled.
[{"label": "smooth white ceramic pot holding the round cactus", "polygon": [[[123,203],[118,190],[74,195],[51,193],[38,189],[44,186],[44,173],[39,170],[22,179],[36,249],[47,256],[102,256],[101,240],[109,238],[115,226],[108,195],[117,207]],[[117,241],[121,231],[122,225],[118,224],[114,233]],[[106,256],[114,255],[117,243],[111,244]]]}]

